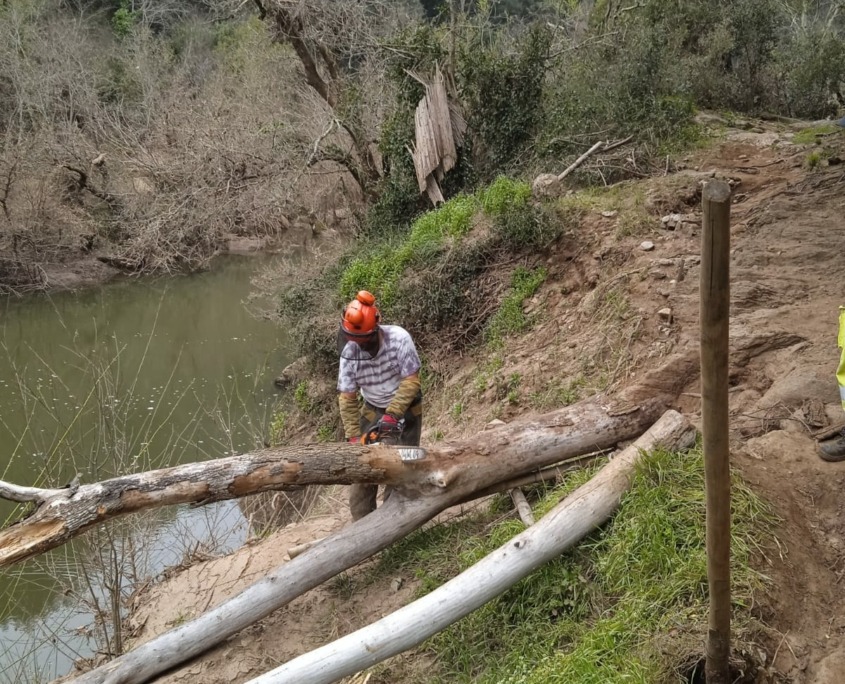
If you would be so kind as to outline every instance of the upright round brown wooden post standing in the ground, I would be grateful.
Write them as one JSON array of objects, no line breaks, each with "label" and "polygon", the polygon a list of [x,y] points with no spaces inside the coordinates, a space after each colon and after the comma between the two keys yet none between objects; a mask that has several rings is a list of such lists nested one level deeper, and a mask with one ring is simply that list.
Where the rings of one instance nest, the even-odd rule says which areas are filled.
[{"label": "upright round brown wooden post standing in the ground", "polygon": [[702,193],[701,413],[707,500],[710,617],[705,649],[707,684],[730,682],[731,473],[728,442],[728,319],[731,188],[709,181]]}]

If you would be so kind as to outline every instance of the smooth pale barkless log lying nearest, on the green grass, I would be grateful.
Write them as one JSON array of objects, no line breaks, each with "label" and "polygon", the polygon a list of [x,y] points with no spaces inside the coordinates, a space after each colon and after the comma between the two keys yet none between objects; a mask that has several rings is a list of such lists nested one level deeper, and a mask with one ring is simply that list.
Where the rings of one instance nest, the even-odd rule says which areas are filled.
[{"label": "smooth pale barkless log lying nearest, on the green grass", "polygon": [[249,684],[329,684],[421,644],[604,523],[628,489],[643,452],[685,448],[694,441],[695,428],[689,421],[680,413],[667,411],[640,439],[542,520],[469,570],[378,622],[294,658]]}]

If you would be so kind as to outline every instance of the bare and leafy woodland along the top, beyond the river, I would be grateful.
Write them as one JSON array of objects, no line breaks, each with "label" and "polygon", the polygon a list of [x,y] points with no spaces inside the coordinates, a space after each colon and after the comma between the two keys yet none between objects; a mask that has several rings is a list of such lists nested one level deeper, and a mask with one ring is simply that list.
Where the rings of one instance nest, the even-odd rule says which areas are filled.
[{"label": "bare and leafy woodland along the top, beyond the river", "polygon": [[[842,104],[833,0],[4,0],[0,287],[94,254],[203,266],[221,236],[299,221],[407,229],[408,148],[441,65],[468,130],[446,196],[635,136],[647,174],[695,107],[822,118]],[[596,180],[596,179],[594,179]]]}]

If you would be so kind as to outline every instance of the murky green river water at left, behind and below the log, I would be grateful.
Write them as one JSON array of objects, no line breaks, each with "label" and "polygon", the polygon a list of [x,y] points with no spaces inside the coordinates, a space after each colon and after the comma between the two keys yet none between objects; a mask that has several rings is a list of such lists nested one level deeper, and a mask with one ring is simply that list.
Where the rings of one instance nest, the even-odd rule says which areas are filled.
[{"label": "murky green river water at left, behind and below the log", "polygon": [[[290,362],[284,332],[247,303],[266,265],[228,257],[190,277],[0,302],[0,479],[95,482],[260,446]],[[0,521],[19,514],[0,502]],[[108,529],[0,570],[0,684],[47,681],[107,649],[89,626],[118,592],[125,610],[139,579],[248,532],[233,502]]]}]

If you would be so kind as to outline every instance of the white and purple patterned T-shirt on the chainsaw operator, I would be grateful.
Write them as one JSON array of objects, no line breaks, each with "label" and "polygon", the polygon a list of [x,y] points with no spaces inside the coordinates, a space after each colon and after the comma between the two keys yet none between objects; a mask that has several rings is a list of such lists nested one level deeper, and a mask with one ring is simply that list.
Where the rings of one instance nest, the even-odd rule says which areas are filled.
[{"label": "white and purple patterned T-shirt on the chainsaw operator", "polygon": [[379,326],[382,343],[371,358],[354,342],[347,342],[340,354],[338,392],[361,390],[364,400],[386,408],[402,378],[419,372],[420,357],[410,333],[398,325]]}]

